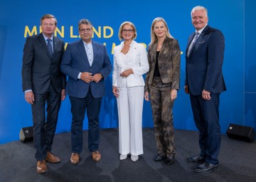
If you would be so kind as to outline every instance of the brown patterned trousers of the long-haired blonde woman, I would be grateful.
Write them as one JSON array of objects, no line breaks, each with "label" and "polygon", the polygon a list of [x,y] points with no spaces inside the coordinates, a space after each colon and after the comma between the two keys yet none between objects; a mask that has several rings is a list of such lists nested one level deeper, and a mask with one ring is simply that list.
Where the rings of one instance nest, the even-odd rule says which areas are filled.
[{"label": "brown patterned trousers of the long-haired blonde woman", "polygon": [[164,84],[160,77],[154,77],[149,87],[151,108],[158,153],[165,156],[175,156],[174,122],[171,101],[171,83]]}]

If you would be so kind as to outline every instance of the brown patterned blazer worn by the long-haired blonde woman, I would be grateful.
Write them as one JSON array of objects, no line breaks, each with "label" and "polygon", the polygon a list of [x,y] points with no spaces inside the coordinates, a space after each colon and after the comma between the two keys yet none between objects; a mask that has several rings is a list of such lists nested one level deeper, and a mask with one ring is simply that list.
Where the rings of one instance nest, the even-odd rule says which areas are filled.
[{"label": "brown patterned blazer worn by the long-haired blonde woman", "polygon": [[[156,65],[156,48],[157,41],[149,45],[148,60],[149,72],[146,73],[145,91],[149,91],[154,77],[154,68]],[[181,50],[178,41],[174,38],[164,40],[161,47],[159,58],[159,73],[164,83],[172,83],[171,89],[179,90],[180,87],[180,68],[181,68]]]}]

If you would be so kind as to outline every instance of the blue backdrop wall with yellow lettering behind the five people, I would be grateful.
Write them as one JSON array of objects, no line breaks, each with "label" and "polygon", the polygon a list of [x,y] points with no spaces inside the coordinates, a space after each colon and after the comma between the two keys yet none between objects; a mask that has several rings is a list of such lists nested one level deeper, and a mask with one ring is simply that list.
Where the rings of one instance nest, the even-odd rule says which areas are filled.
[{"label": "blue backdrop wall with yellow lettering behind the five people", "polygon": [[[112,60],[112,50],[120,43],[119,26],[132,21],[137,39],[150,42],[150,27],[161,16],[169,25],[171,35],[185,51],[188,36],[194,31],[191,9],[201,5],[208,9],[209,25],[219,28],[225,36],[223,74],[228,88],[220,96],[220,126],[225,133],[228,124],[255,127],[256,63],[255,1],[244,0],[164,0],[164,1],[0,1],[0,144],[18,140],[21,127],[32,126],[31,106],[21,90],[21,65],[26,37],[40,33],[40,18],[53,14],[58,19],[56,35],[65,43],[77,41],[78,21],[87,18],[95,28],[93,40],[105,43]],[[196,130],[188,95],[183,92],[185,56],[181,55],[181,90],[174,104],[175,129]],[[106,97],[102,100],[100,126],[117,127],[117,104],[112,95],[112,74],[106,80]],[[70,101],[62,102],[57,133],[69,132]],[[144,102],[143,127],[153,127],[151,107]],[[84,122],[87,129],[87,119]]]}]

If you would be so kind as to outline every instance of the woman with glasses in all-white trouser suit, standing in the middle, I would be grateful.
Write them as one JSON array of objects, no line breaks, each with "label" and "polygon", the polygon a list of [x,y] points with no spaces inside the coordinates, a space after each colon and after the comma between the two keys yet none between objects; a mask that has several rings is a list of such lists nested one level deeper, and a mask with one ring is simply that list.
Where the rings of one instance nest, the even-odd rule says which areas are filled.
[{"label": "woman with glasses in all-white trouser suit, standing in the middle", "polygon": [[144,101],[143,74],[149,70],[146,48],[134,41],[137,31],[125,21],[119,28],[120,45],[114,48],[113,94],[117,97],[120,160],[131,154],[137,161],[143,154],[142,110]]}]

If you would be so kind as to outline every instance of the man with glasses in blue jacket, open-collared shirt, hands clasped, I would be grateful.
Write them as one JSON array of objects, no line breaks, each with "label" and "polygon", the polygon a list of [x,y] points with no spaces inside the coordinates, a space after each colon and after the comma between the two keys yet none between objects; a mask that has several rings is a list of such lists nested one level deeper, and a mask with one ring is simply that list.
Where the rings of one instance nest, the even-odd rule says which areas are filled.
[{"label": "man with glasses in blue jacket, open-collared shirt, hands clasped", "polygon": [[78,164],[82,152],[82,123],[87,109],[88,149],[93,161],[100,161],[99,114],[105,95],[105,79],[112,65],[105,45],[92,41],[92,23],[82,19],[78,23],[80,41],[68,44],[60,69],[68,75],[67,95],[70,97],[72,154],[71,164]]}]

